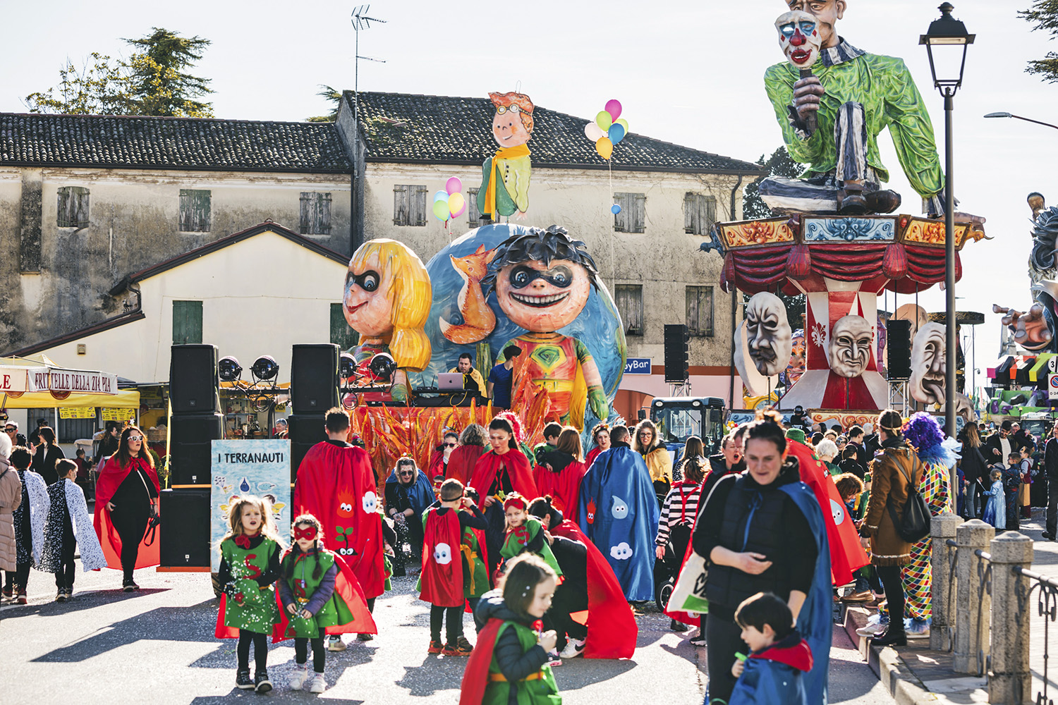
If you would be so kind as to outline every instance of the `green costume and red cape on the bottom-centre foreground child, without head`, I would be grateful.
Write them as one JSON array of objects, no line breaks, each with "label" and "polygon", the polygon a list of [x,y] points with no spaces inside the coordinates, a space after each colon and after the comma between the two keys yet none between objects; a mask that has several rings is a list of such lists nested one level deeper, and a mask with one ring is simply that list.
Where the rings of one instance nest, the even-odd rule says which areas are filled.
[{"label": "green costume and red cape on the bottom-centre foreground child, without head", "polygon": [[475,618],[485,628],[463,671],[459,705],[561,705],[548,655],[536,644],[543,625],[527,624],[498,595],[484,600]]}]

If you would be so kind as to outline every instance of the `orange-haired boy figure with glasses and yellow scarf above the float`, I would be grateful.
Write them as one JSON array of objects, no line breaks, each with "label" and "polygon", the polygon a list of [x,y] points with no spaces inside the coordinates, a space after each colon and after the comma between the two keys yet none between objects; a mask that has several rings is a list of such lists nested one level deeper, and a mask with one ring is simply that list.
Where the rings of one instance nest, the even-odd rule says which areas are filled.
[{"label": "orange-haired boy figure with glasses and yellow scarf above the float", "polygon": [[489,93],[496,114],[492,116],[492,136],[499,145],[495,156],[482,165],[481,190],[477,209],[482,216],[499,220],[515,210],[529,208],[529,147],[532,138],[532,100],[522,93]]}]

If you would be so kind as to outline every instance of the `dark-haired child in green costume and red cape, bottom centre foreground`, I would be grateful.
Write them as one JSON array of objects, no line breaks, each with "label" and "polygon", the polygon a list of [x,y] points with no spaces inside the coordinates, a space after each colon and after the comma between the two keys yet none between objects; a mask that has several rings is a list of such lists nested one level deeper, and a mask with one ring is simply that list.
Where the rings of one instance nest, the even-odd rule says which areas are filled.
[{"label": "dark-haired child in green costume and red cape, bottom centre foreground", "polygon": [[557,635],[541,623],[555,585],[554,572],[532,554],[507,564],[503,594],[493,591],[475,612],[486,625],[463,671],[459,705],[562,705],[547,665]]}]

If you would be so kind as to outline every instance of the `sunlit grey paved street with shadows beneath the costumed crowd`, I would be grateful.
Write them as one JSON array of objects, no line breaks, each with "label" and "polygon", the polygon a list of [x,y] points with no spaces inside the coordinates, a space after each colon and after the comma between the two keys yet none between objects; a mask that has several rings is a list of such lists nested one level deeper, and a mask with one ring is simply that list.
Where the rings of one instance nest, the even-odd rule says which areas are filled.
[{"label": "sunlit grey paved street with shadows beneath the costumed crowd", "polygon": [[[78,574],[74,599],[56,604],[51,576],[33,571],[31,604],[0,607],[0,701],[205,705],[314,698],[286,687],[294,658],[290,642],[269,652],[276,690],[256,695],[234,687],[235,643],[213,636],[216,600],[207,576],[144,570],[136,580],[143,590],[126,594],[117,590],[115,571]],[[331,687],[324,698],[371,705],[458,702],[466,660],[426,654],[428,612],[413,598],[413,587],[414,578],[398,578],[394,592],[379,599],[381,633],[375,641],[328,654]],[[669,620],[660,614],[649,613],[639,624],[633,660],[578,658],[555,669],[564,703],[701,703],[705,650],[691,647],[686,634],[668,631]],[[469,615],[467,630],[473,641]],[[832,660],[832,703],[892,704],[840,629]]]}]

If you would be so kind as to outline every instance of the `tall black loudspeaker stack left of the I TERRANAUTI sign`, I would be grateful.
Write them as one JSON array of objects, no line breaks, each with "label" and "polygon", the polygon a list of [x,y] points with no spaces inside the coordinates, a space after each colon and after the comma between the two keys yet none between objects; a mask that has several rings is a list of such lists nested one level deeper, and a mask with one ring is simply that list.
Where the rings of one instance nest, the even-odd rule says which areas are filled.
[{"label": "tall black loudspeaker stack left of the I TERRANAUTI sign", "polygon": [[209,565],[211,443],[224,438],[217,348],[172,346],[169,365],[169,487],[159,527],[163,567]]}]

